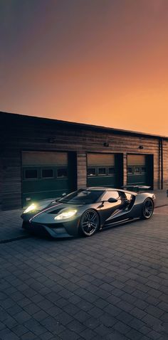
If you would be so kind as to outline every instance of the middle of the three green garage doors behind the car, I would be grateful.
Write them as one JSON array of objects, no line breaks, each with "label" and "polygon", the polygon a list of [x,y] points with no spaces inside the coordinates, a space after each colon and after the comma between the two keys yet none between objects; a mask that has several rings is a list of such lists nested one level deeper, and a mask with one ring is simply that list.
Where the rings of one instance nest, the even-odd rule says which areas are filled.
[{"label": "middle of the three green garage doors behind the car", "polygon": [[88,186],[115,188],[116,174],[114,154],[88,154],[87,161]]}]

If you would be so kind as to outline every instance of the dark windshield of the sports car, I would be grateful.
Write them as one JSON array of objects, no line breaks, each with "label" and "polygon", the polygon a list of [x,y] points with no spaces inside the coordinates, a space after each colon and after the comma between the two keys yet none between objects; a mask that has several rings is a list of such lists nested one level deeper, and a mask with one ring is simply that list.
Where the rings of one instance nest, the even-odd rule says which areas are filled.
[{"label": "dark windshield of the sports car", "polygon": [[61,198],[59,202],[68,204],[91,204],[98,201],[98,198],[104,193],[103,190],[78,190],[65,198]]}]

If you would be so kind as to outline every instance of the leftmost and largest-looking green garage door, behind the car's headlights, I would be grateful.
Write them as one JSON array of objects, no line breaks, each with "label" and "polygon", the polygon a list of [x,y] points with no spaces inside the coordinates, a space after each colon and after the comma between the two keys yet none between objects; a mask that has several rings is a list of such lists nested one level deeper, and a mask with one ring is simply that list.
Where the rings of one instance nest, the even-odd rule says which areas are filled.
[{"label": "leftmost and largest-looking green garage door, behind the car's headlights", "polygon": [[75,168],[74,156],[67,152],[22,152],[23,206],[75,190]]}]

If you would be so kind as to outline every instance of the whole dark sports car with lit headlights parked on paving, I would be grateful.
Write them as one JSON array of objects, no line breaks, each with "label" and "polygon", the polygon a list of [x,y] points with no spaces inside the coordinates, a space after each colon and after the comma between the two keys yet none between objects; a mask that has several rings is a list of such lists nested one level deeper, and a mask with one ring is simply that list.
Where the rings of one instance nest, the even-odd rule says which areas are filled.
[{"label": "whole dark sports car with lit headlights parked on paving", "polygon": [[154,210],[153,193],[113,188],[80,189],[58,200],[32,203],[21,215],[23,228],[53,238],[85,235],[112,225],[143,218]]}]

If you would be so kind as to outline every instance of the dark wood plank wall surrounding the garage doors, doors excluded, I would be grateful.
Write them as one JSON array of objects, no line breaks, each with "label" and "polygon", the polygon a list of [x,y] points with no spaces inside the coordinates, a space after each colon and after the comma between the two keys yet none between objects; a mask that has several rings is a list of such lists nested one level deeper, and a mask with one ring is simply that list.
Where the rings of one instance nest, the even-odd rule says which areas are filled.
[{"label": "dark wood plank wall surrounding the garage doors, doors excluded", "polygon": [[23,151],[76,152],[78,188],[87,185],[88,152],[123,154],[123,184],[127,184],[127,154],[152,154],[154,188],[168,187],[166,137],[4,112],[0,113],[0,129],[2,209],[21,207]]}]

